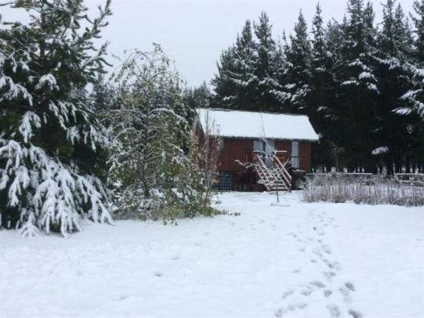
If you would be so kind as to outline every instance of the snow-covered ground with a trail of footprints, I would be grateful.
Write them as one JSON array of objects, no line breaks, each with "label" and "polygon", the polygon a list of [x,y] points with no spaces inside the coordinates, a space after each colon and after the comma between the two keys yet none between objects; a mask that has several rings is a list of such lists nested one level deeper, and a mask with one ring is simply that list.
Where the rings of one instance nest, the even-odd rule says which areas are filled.
[{"label": "snow-covered ground with a trail of footprints", "polygon": [[424,317],[423,208],[220,199],[241,215],[0,231],[0,316]]}]

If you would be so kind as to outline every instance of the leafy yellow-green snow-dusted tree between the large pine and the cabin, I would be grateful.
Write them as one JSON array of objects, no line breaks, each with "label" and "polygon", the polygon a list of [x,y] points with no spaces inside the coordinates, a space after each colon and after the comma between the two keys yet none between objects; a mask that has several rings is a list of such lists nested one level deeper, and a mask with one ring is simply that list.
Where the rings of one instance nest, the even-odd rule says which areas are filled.
[{"label": "leafy yellow-green snow-dusted tree between the large pine and the cabin", "polygon": [[113,80],[121,105],[103,115],[111,124],[110,176],[117,217],[193,217],[211,213],[202,174],[192,159],[189,111],[172,60],[155,45],[131,51]]}]

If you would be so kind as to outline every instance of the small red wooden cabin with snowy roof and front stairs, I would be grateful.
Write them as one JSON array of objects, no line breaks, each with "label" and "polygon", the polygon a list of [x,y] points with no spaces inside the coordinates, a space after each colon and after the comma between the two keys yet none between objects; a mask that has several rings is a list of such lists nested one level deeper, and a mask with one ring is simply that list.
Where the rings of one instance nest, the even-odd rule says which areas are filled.
[{"label": "small red wooden cabin with snowy roof and front stairs", "polygon": [[[277,184],[278,171],[283,174],[281,182],[290,182],[286,187],[291,189],[292,178],[311,170],[311,145],[318,142],[318,135],[305,115],[204,108],[196,113],[197,131],[208,129],[220,137],[219,190],[269,190],[272,186],[266,186],[265,179]],[[282,170],[287,170],[286,177]]]}]

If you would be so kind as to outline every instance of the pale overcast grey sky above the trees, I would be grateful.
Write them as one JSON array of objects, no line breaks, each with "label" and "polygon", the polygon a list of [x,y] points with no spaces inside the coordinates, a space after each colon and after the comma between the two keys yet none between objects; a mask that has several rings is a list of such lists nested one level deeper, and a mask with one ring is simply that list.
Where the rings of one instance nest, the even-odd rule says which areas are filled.
[{"label": "pale overcast grey sky above the trees", "polygon": [[[342,20],[346,0],[320,0],[324,21]],[[376,21],[380,22],[382,7],[374,0]],[[404,10],[412,10],[412,0],[399,1]],[[87,0],[91,9],[104,3]],[[273,24],[274,38],[283,30],[289,34],[299,10],[311,28],[316,0],[280,1],[112,1],[113,16],[103,38],[110,41],[109,52],[120,55],[125,49],[150,50],[152,42],[162,45],[171,55],[189,86],[208,83],[216,71],[216,60],[222,49],[235,42],[246,19],[257,20],[265,11]],[[16,11],[16,10],[15,10]],[[4,20],[17,19],[16,12],[0,7]],[[109,59],[113,63],[113,59]]]}]

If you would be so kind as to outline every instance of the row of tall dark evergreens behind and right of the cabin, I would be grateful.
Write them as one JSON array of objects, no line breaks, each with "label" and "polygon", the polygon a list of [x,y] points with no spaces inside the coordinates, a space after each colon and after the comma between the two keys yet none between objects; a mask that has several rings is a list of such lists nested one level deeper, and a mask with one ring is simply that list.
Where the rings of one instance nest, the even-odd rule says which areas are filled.
[{"label": "row of tall dark evergreens behind and right of the cabin", "polygon": [[348,0],[343,21],[324,25],[318,3],[310,28],[300,11],[277,40],[265,12],[247,20],[217,62],[210,106],[308,115],[316,166],[424,171],[424,0],[410,14],[382,6],[376,24],[371,2]]}]

